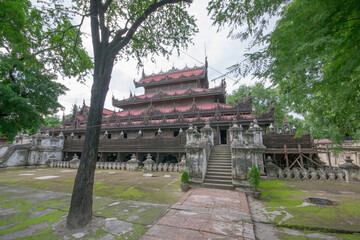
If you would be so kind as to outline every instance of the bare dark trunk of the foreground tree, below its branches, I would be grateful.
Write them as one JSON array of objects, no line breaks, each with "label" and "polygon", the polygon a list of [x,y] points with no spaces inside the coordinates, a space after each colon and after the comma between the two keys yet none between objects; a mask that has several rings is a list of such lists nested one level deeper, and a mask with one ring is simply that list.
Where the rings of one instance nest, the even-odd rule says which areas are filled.
[{"label": "bare dark trunk of the foreground tree, below its branches", "polygon": [[[91,89],[91,104],[86,125],[85,141],[71,197],[67,227],[79,228],[92,218],[93,185],[99,147],[102,111],[109,89],[113,61],[95,60],[94,83]],[[107,59],[108,60],[108,59]],[[101,64],[102,63],[102,64]],[[102,65],[103,67],[97,67]],[[97,69],[101,68],[100,71]],[[101,72],[101,74],[98,74]]]}]

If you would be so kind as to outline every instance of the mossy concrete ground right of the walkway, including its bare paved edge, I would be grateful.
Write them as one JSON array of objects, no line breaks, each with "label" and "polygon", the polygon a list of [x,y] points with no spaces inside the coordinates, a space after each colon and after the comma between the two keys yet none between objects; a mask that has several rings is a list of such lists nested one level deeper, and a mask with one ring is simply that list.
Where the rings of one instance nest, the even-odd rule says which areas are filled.
[{"label": "mossy concrete ground right of the walkway, including its bare paved edge", "polygon": [[258,239],[360,239],[360,184],[271,180],[260,187],[260,200],[248,197]]}]

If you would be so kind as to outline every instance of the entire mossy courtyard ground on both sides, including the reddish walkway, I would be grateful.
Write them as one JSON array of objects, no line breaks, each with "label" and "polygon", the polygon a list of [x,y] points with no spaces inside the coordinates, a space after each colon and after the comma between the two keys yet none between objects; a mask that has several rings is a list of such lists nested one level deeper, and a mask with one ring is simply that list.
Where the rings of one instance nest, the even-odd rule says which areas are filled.
[{"label": "entire mossy courtyard ground on both sides, including the reddish walkway", "polygon": [[[248,197],[250,215],[244,193],[195,189],[183,195],[178,173],[148,178],[115,170],[96,172],[92,224],[69,231],[64,225],[75,174],[0,171],[0,239],[254,239],[253,225],[256,239],[360,239],[358,183],[262,181],[261,199]],[[335,204],[311,205],[308,197]]]}]

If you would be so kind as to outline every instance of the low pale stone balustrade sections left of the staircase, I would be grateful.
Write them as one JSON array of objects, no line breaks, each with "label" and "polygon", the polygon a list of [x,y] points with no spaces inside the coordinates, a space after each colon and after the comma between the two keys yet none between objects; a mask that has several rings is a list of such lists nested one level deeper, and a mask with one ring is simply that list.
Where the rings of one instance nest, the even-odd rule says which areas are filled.
[{"label": "low pale stone balustrade sections left of the staircase", "polygon": [[[71,166],[70,161],[55,161],[50,164],[50,167],[78,168],[78,164]],[[185,165],[180,163],[153,163],[145,164],[143,170],[146,172],[183,172],[185,168]],[[96,169],[134,170],[133,165],[126,162],[98,162]]]}]

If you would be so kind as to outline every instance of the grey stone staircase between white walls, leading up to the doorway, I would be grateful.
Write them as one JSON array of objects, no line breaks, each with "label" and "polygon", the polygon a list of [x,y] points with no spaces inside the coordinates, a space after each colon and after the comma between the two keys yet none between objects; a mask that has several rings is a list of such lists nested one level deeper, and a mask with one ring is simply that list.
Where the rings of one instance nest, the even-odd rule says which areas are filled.
[{"label": "grey stone staircase between white walls, leading up to the doorway", "polygon": [[231,152],[229,145],[215,145],[211,149],[204,187],[234,189],[231,177]]}]

